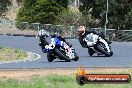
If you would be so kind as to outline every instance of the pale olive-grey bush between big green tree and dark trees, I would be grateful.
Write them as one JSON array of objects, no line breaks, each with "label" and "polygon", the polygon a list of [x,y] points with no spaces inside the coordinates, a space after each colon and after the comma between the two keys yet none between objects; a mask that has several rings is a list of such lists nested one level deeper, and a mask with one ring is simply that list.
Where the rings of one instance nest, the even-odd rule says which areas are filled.
[{"label": "pale olive-grey bush between big green tree and dark trees", "polygon": [[90,15],[82,15],[77,7],[69,7],[69,9],[58,16],[58,18],[59,24],[62,25],[93,26],[96,24]]}]

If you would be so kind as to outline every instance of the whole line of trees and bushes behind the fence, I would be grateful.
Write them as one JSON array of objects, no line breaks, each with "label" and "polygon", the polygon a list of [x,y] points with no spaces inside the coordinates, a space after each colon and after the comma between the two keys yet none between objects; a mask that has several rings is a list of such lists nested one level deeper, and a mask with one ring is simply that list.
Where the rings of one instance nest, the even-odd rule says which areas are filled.
[{"label": "whole line of trees and bushes behind the fence", "polygon": [[[2,2],[1,2],[2,1]],[[10,0],[1,0],[0,15]],[[104,27],[107,0],[80,0],[80,6],[69,7],[69,0],[17,0],[22,7],[17,21],[42,24],[86,25]],[[4,3],[4,4],[3,4]],[[132,29],[132,0],[109,0],[107,28]]]}]

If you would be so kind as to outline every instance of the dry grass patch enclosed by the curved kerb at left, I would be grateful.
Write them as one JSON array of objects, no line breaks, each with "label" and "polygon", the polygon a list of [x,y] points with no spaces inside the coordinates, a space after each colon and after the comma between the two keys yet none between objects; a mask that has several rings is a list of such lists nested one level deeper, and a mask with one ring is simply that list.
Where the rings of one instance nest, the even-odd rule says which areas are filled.
[{"label": "dry grass patch enclosed by the curved kerb at left", "polygon": [[27,53],[22,50],[0,47],[0,62],[24,59]]}]

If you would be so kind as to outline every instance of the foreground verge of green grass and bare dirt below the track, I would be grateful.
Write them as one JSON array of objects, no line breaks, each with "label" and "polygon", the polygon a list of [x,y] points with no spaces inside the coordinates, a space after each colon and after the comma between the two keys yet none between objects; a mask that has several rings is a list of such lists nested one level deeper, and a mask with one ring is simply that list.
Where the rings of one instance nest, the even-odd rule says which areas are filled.
[{"label": "foreground verge of green grass and bare dirt below the track", "polygon": [[[98,71],[96,71],[98,70]],[[100,69],[87,70],[89,74],[130,74],[132,76],[132,69]],[[109,71],[108,71],[109,70]],[[129,84],[85,84],[80,86],[76,82],[76,70],[56,70],[58,73],[54,73],[55,70],[33,70],[33,71],[15,71],[20,74],[26,73],[27,76],[21,75],[18,78],[11,78],[8,76],[0,76],[0,88],[132,88],[132,82]],[[70,74],[69,74],[69,71]],[[5,73],[11,71],[5,71]],[[22,73],[20,73],[22,72]],[[49,72],[49,74],[47,74]],[[14,71],[12,71],[14,73]],[[34,73],[34,74],[33,74]],[[66,74],[68,73],[68,74]],[[1,74],[1,72],[0,72]],[[26,75],[24,74],[24,75]],[[29,76],[29,74],[32,74]]]}]

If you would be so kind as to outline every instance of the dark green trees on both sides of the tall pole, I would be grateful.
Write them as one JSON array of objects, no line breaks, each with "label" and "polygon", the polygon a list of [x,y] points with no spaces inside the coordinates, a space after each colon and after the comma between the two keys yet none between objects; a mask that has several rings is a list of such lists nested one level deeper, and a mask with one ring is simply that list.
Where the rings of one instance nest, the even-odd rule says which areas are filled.
[{"label": "dark green trees on both sides of the tall pole", "polygon": [[[98,26],[104,26],[106,0],[80,0],[80,11],[84,15],[91,15],[99,20]],[[132,22],[132,0],[109,0],[108,27],[116,29],[130,29]]]}]

